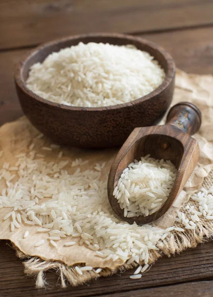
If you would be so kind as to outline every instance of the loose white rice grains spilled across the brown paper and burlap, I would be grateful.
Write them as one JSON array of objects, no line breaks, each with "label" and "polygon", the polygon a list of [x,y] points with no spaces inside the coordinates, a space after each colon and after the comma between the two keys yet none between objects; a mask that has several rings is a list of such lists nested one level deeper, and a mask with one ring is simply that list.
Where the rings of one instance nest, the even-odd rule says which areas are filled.
[{"label": "loose white rice grains spilled across the brown paper and burlap", "polygon": [[[39,240],[35,243],[36,247],[42,247],[48,241],[49,245],[57,249],[58,242],[62,241],[64,248],[69,248],[76,245],[79,239],[80,245],[86,245],[97,257],[105,260],[123,259],[127,264],[144,263],[143,267],[139,265],[130,276],[131,279],[139,279],[149,268],[150,250],[158,250],[158,244],[172,230],[194,230],[200,217],[213,219],[212,187],[209,191],[202,189],[203,192],[192,196],[191,201],[199,202],[199,208],[190,204],[185,206],[190,220],[185,218],[183,212],[178,212],[175,220],[182,223],[182,228],[173,226],[163,230],[151,225],[138,226],[136,223],[129,225],[121,222],[114,215],[107,198],[107,177],[103,180],[102,174],[104,162],[83,170],[87,160],[76,159],[70,162],[65,157],[62,158],[63,152],[57,145],[43,147],[42,154],[37,153],[34,146],[33,143],[28,153],[17,155],[16,164],[10,166],[9,163],[4,163],[0,169],[0,179],[5,182],[5,188],[0,193],[0,208],[8,208],[4,220],[10,221],[11,232],[19,229],[24,240],[28,240],[30,232],[23,232],[23,225],[25,230],[28,225],[37,228]],[[56,157],[55,161],[47,162],[45,155],[52,150],[58,155],[58,159]],[[0,157],[2,156],[3,152],[0,151]],[[144,159],[150,168],[155,168],[157,163],[160,164],[159,167],[164,167],[163,172],[165,169],[173,172],[170,162],[150,161],[149,156]],[[152,162],[153,166],[150,165]],[[130,164],[130,167],[135,163]],[[67,166],[75,169],[72,175],[68,174]],[[131,170],[130,167],[128,171]],[[152,193],[151,186],[149,192]],[[44,233],[48,233],[47,240]],[[96,268],[97,274],[102,270],[91,266],[75,268],[80,275],[93,268]]]}]

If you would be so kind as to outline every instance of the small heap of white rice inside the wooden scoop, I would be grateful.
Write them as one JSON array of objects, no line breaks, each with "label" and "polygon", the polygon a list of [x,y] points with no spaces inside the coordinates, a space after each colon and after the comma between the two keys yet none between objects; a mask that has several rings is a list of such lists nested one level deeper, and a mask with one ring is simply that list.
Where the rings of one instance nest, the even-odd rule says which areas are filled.
[{"label": "small heap of white rice inside the wooden scoop", "polygon": [[124,209],[125,217],[153,214],[169,197],[177,170],[170,161],[150,155],[128,165],[113,195]]}]

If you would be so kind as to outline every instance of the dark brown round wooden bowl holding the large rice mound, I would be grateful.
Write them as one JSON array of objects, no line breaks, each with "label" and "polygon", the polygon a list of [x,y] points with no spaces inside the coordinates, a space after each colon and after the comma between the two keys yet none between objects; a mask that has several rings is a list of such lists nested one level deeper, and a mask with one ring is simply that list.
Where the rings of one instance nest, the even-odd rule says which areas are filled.
[{"label": "dark brown round wooden bowl holding the large rice mound", "polygon": [[[106,107],[71,107],[43,99],[26,87],[29,68],[42,62],[53,51],[79,42],[132,44],[149,52],[166,72],[161,86],[152,93],[128,103]],[[123,34],[86,34],[71,36],[34,49],[17,65],[15,85],[22,109],[31,123],[44,135],[66,145],[81,148],[109,148],[122,145],[135,127],[159,123],[170,106],[174,90],[175,65],[161,47],[139,37]]]}]

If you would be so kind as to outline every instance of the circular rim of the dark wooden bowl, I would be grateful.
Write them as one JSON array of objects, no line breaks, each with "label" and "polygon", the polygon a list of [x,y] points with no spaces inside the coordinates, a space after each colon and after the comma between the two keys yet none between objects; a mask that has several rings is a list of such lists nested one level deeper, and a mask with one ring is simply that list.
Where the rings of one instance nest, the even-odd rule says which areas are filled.
[{"label": "circular rim of the dark wooden bowl", "polygon": [[[99,107],[80,107],[80,106],[70,106],[70,105],[65,105],[65,104],[61,104],[61,103],[56,103],[56,102],[52,102],[50,100],[47,99],[43,99],[42,97],[36,95],[35,93],[33,93],[30,89],[28,89],[26,82],[23,79],[23,75],[22,75],[22,71],[23,71],[23,67],[25,66],[25,63],[30,60],[35,54],[37,54],[39,51],[42,51],[43,49],[47,48],[47,47],[51,47],[57,44],[60,44],[62,42],[68,41],[68,40],[78,40],[79,42],[81,42],[81,39],[83,38],[92,38],[92,37],[104,37],[104,38],[120,38],[120,39],[126,39],[127,41],[132,41],[132,42],[139,42],[141,44],[144,45],[148,45],[149,47],[153,48],[154,50],[160,52],[168,65],[168,70],[166,73],[166,76],[162,82],[162,84],[160,86],[158,86],[155,90],[153,90],[151,93],[142,96],[138,99],[134,99],[132,101],[129,102],[125,102],[125,103],[120,103],[120,104],[116,104],[116,105],[109,105],[109,106],[99,106]],[[164,69],[165,70],[165,69]],[[125,108],[125,107],[129,107],[129,106],[133,106],[136,105],[138,103],[141,103],[143,101],[152,99],[153,96],[156,96],[158,94],[160,94],[162,91],[164,91],[171,83],[172,79],[175,76],[175,63],[174,60],[172,59],[171,55],[165,50],[163,49],[161,46],[143,39],[141,37],[138,36],[132,36],[132,35],[127,35],[127,34],[120,34],[120,33],[90,33],[90,34],[81,34],[81,35],[71,35],[71,36],[66,36],[63,38],[59,38],[59,39],[55,39],[52,40],[50,42],[46,42],[41,44],[40,46],[36,47],[35,49],[33,49],[30,53],[27,53],[24,58],[16,65],[15,68],[15,73],[14,73],[14,79],[16,84],[19,86],[19,88],[26,93],[27,95],[29,95],[30,97],[32,97],[35,100],[38,100],[44,104],[48,104],[50,106],[53,107],[59,107],[61,109],[66,109],[66,110],[72,110],[72,111],[104,111],[104,110],[113,110],[113,109],[119,109],[119,108]]]}]

